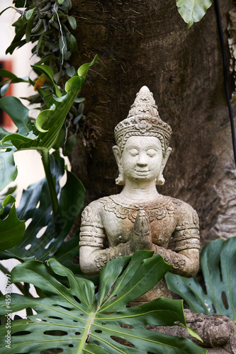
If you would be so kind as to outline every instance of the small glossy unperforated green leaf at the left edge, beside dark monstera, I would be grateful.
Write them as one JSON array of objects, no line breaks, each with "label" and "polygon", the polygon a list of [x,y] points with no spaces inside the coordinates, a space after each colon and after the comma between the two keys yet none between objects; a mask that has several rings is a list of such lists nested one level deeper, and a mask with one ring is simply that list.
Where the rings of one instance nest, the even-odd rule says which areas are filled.
[{"label": "small glossy unperforated green leaf at the left edge, beside dark monstera", "polygon": [[8,195],[4,198],[1,205],[0,215],[3,214],[4,207],[13,202],[9,215],[5,219],[0,220],[0,251],[16,246],[25,233],[25,222],[19,220],[16,216],[15,201],[12,195]]}]

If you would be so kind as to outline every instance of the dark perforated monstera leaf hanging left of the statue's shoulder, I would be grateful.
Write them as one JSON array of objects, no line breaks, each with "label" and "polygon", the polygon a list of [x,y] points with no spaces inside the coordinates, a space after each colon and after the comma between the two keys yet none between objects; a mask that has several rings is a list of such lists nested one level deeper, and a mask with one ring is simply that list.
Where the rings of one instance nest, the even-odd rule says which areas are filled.
[{"label": "dark perforated monstera leaf hanging left of the statue's shoulder", "polygon": [[64,174],[63,159],[58,164],[52,158],[51,171],[57,194],[60,195],[57,215],[52,215],[46,180],[30,185],[23,191],[17,208],[18,218],[26,220],[25,235],[16,247],[9,249],[7,253],[0,253],[2,259],[9,254],[23,260],[37,258],[44,261],[52,257],[69,233],[84,204],[84,186],[73,173],[67,171],[67,183],[60,188],[60,178]]}]

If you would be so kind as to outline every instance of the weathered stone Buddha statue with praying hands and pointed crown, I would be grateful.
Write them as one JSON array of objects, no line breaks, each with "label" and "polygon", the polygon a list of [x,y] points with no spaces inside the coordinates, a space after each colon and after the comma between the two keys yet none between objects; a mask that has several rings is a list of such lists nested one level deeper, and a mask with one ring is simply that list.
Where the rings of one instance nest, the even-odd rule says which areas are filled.
[{"label": "weathered stone Buddha statue with praying hands and pointed crown", "polygon": [[[116,183],[123,185],[123,190],[91,202],[82,213],[79,262],[85,274],[99,273],[113,258],[147,249],[172,264],[171,272],[196,275],[198,215],[186,202],[157,191],[157,186],[164,184],[171,134],[171,127],[159,118],[152,93],[143,86],[128,118],[115,128]],[[174,251],[168,249],[171,238]],[[164,280],[147,294],[142,301],[171,297]]]}]

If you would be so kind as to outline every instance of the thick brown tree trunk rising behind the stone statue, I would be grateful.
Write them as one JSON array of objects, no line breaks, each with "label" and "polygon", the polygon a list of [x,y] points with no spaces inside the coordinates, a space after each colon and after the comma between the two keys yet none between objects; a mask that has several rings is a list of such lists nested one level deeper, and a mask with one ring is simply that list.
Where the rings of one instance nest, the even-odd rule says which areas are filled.
[{"label": "thick brown tree trunk rising behind the stone statue", "polygon": [[[220,0],[226,45],[233,7]],[[87,189],[86,202],[119,192],[113,129],[146,85],[173,130],[159,193],[197,210],[202,244],[235,236],[236,171],[214,5],[189,30],[174,0],[73,0],[72,15],[78,42],[74,67],[99,55],[82,89],[86,120],[71,156]]]}]

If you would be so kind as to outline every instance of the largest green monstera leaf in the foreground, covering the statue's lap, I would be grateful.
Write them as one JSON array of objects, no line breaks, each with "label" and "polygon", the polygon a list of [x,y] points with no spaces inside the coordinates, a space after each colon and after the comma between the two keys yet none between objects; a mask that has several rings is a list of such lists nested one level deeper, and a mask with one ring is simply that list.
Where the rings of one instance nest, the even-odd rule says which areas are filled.
[{"label": "largest green monstera leaf in the foreground, covering the statue's lap", "polygon": [[[206,353],[185,338],[145,329],[148,324],[172,326],[175,321],[186,326],[181,300],[159,298],[126,307],[150,290],[171,267],[162,256],[152,257],[150,251],[138,251],[130,258],[120,257],[103,267],[97,293],[93,282],[76,278],[54,258],[46,265],[27,261],[13,268],[12,282],[31,283],[40,288],[42,297],[11,295],[12,312],[31,307],[37,314],[11,322],[11,348],[7,353],[39,354],[49,349],[68,354]],[[55,275],[60,275],[61,280]],[[1,314],[5,315],[4,297],[0,304]],[[1,350],[6,348],[5,335],[3,324]]]}]

